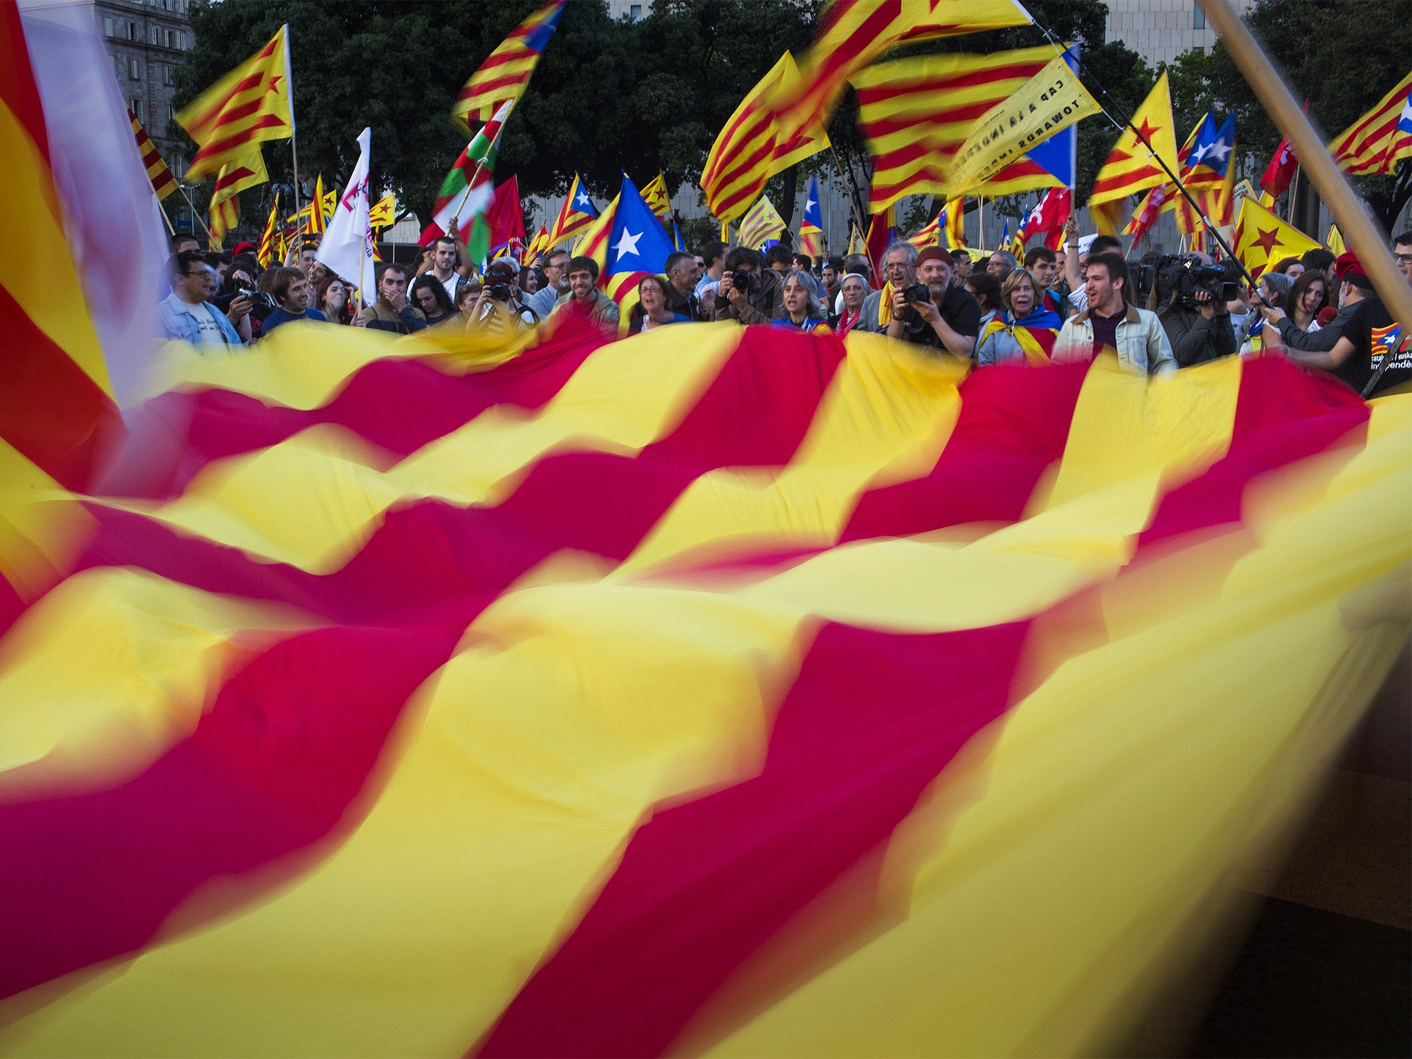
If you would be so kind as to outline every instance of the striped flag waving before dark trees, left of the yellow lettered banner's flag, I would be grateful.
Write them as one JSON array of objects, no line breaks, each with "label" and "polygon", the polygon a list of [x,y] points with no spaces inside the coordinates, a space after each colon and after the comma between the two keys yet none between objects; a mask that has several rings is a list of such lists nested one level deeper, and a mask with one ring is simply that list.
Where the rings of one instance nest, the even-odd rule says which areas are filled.
[{"label": "striped flag waving before dark trees, left of the yellow lettered banner's flag", "polygon": [[760,79],[720,130],[706,155],[702,191],[706,208],[722,222],[730,222],[750,209],[765,184],[798,161],[829,145],[819,124],[808,124],[789,134],[770,112],[770,100],[781,86],[796,82],[794,55],[785,52]]}]

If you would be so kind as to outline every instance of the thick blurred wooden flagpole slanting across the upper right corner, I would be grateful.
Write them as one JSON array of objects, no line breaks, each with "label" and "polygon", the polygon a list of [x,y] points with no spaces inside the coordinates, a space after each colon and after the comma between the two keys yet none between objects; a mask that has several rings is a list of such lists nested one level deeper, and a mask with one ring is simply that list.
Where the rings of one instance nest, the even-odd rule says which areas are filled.
[{"label": "thick blurred wooden flagpole slanting across the upper right corner", "polygon": [[[1255,38],[1250,35],[1236,8],[1217,0],[1196,0],[1196,3],[1214,23],[1216,32],[1226,42],[1255,97],[1275,120],[1275,126],[1293,141],[1300,165],[1309,167],[1309,182],[1329,203],[1339,232],[1343,233],[1343,241],[1358,247],[1358,261],[1384,304],[1404,328],[1412,329],[1412,287],[1408,287],[1396,261],[1392,260],[1387,234],[1378,232],[1374,222],[1363,212],[1358,196],[1348,186],[1348,179],[1339,171],[1329,148],[1309,124],[1309,119],[1300,113],[1295,97],[1289,95],[1289,88]],[[1220,239],[1220,233],[1214,229],[1211,234]],[[1221,244],[1224,246],[1224,240]],[[1391,361],[1391,356],[1384,359],[1384,363]]]}]

